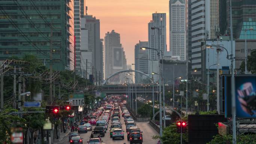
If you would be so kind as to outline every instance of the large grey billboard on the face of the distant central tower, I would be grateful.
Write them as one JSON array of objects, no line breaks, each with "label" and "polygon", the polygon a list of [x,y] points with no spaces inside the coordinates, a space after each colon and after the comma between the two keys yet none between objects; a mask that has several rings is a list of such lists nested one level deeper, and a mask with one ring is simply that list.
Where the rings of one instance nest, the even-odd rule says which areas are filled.
[{"label": "large grey billboard on the face of the distant central tower", "polygon": [[113,68],[123,69],[123,49],[121,47],[113,48]]}]

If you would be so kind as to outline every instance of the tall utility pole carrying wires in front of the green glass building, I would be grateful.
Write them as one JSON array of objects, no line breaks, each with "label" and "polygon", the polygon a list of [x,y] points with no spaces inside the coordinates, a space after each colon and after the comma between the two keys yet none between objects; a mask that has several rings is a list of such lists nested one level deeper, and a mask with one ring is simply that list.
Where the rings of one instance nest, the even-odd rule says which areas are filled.
[{"label": "tall utility pole carrying wires in front of the green glass building", "polygon": [[[52,21],[51,21],[52,27]],[[50,104],[52,104],[52,29],[51,29],[51,39],[50,39]]]}]

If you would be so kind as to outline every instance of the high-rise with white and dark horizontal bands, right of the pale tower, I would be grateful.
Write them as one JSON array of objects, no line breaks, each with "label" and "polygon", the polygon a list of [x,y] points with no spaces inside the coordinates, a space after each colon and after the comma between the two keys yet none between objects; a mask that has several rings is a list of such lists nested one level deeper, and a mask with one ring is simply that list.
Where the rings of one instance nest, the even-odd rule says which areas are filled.
[{"label": "high-rise with white and dark horizontal bands, right of the pale tower", "polygon": [[218,24],[218,0],[192,0],[192,70],[201,77],[201,42],[215,39]]}]

